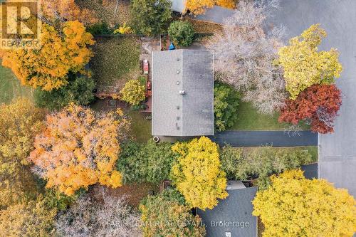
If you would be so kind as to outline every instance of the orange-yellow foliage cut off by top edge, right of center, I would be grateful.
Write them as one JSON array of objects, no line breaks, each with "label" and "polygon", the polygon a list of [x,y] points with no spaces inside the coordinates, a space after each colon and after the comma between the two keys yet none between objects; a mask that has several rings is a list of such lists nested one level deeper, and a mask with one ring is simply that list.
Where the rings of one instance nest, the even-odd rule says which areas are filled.
[{"label": "orange-yellow foliage cut off by top edge, right of center", "polygon": [[228,9],[234,9],[234,0],[187,0],[185,2],[186,11],[189,10],[191,14],[199,15],[204,14],[206,9],[210,9],[213,6],[223,6]]}]

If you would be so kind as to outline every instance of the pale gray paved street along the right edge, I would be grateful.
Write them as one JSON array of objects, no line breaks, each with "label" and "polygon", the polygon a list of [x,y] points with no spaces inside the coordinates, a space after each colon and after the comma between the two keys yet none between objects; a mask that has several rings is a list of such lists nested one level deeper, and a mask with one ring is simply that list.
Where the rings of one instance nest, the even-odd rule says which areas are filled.
[{"label": "pale gray paved street along the right edge", "polygon": [[356,196],[356,1],[281,0],[281,9],[271,22],[283,23],[290,38],[313,23],[328,33],[320,50],[340,51],[343,72],[337,86],[344,98],[333,135],[320,135],[319,177],[345,188]]}]

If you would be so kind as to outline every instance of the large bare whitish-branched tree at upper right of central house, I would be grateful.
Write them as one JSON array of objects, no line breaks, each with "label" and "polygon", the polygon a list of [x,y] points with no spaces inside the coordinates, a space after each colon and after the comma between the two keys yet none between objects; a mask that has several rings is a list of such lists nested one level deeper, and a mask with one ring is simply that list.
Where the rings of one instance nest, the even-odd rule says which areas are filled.
[{"label": "large bare whitish-branched tree at upper right of central house", "polygon": [[219,80],[241,90],[242,99],[252,102],[259,112],[272,114],[286,100],[281,68],[273,65],[277,48],[282,45],[283,29],[263,31],[268,11],[276,1],[263,3],[239,1],[234,15],[226,19],[223,32],[216,33],[208,47],[214,50]]}]

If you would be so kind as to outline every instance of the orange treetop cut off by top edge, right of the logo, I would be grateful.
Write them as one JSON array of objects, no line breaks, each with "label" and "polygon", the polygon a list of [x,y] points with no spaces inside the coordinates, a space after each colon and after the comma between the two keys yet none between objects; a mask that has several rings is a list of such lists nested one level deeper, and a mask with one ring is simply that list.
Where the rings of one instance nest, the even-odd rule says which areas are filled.
[{"label": "orange treetop cut off by top edge, right of the logo", "polygon": [[43,17],[46,18],[46,20],[78,20],[85,24],[85,26],[98,21],[95,17],[95,11],[80,9],[80,7],[75,4],[75,0],[41,0],[40,3]]}]

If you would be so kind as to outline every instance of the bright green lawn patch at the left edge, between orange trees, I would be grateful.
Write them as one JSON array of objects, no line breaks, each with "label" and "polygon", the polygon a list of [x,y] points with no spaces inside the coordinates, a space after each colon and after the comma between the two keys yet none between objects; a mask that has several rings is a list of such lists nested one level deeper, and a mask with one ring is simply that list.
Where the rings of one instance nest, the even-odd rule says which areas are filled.
[{"label": "bright green lawn patch at the left edge, between orange trees", "polygon": [[9,68],[1,66],[0,60],[0,104],[9,103],[19,96],[32,100],[32,88],[21,85]]}]

